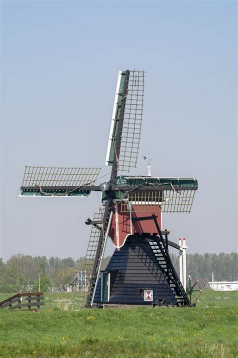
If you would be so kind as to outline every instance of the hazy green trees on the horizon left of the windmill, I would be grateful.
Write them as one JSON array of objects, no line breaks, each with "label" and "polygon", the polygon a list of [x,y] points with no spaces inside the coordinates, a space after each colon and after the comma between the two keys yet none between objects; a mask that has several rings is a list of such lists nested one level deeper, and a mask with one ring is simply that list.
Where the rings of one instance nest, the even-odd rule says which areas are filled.
[{"label": "hazy green trees on the horizon left of the windmill", "polygon": [[[77,270],[83,269],[85,257],[59,258],[17,254],[7,262],[0,258],[0,292],[28,292],[29,290],[64,291],[75,278]],[[103,259],[102,269],[110,257]]]}]

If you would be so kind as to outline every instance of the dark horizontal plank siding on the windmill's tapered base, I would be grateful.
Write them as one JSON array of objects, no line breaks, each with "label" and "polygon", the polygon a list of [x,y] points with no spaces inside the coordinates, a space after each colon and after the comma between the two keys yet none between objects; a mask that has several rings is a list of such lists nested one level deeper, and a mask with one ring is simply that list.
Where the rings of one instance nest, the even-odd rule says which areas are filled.
[{"label": "dark horizontal plank siding on the windmill's tapered base", "polygon": [[[109,304],[152,303],[177,304],[170,284],[161,270],[154,252],[143,237],[131,236],[121,251],[114,251],[106,271],[118,270],[112,287],[110,287]],[[153,302],[144,301],[144,290],[153,290]],[[99,279],[94,303],[101,303],[101,280]]]}]

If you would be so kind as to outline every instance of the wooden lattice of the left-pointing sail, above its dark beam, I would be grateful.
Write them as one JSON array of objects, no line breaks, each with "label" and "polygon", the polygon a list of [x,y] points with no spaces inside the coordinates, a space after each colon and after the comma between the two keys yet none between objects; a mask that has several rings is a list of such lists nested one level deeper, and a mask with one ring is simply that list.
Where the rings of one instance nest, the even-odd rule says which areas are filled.
[{"label": "wooden lattice of the left-pointing sail, above its dark beam", "polygon": [[94,182],[101,168],[25,166],[23,187],[81,186]]}]

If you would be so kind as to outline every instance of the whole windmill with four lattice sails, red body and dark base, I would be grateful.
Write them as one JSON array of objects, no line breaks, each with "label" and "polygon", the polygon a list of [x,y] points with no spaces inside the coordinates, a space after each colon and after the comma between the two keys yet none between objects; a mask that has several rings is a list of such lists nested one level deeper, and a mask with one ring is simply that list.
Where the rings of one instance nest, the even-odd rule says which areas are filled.
[{"label": "whole windmill with four lattice sails, red body and dark base", "polygon": [[[100,191],[103,209],[94,214],[86,253],[90,274],[86,307],[114,305],[190,305],[172,265],[162,212],[190,212],[195,178],[118,175],[136,168],[140,146],[144,71],[118,74],[106,165],[110,179],[95,185],[100,168],[25,167],[22,196],[88,196]],[[146,157],[147,158],[147,157]],[[149,158],[149,157],[148,157]],[[99,178],[100,179],[100,178]],[[107,238],[115,251],[104,271]]]}]

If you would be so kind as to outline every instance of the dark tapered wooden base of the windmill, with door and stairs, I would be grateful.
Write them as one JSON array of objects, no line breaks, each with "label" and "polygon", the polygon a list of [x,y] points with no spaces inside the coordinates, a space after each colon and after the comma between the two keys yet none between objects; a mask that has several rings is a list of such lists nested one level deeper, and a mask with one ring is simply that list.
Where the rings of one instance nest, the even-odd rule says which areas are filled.
[{"label": "dark tapered wooden base of the windmill, with door and stairs", "polygon": [[131,235],[101,271],[94,304],[191,306],[158,236]]}]

